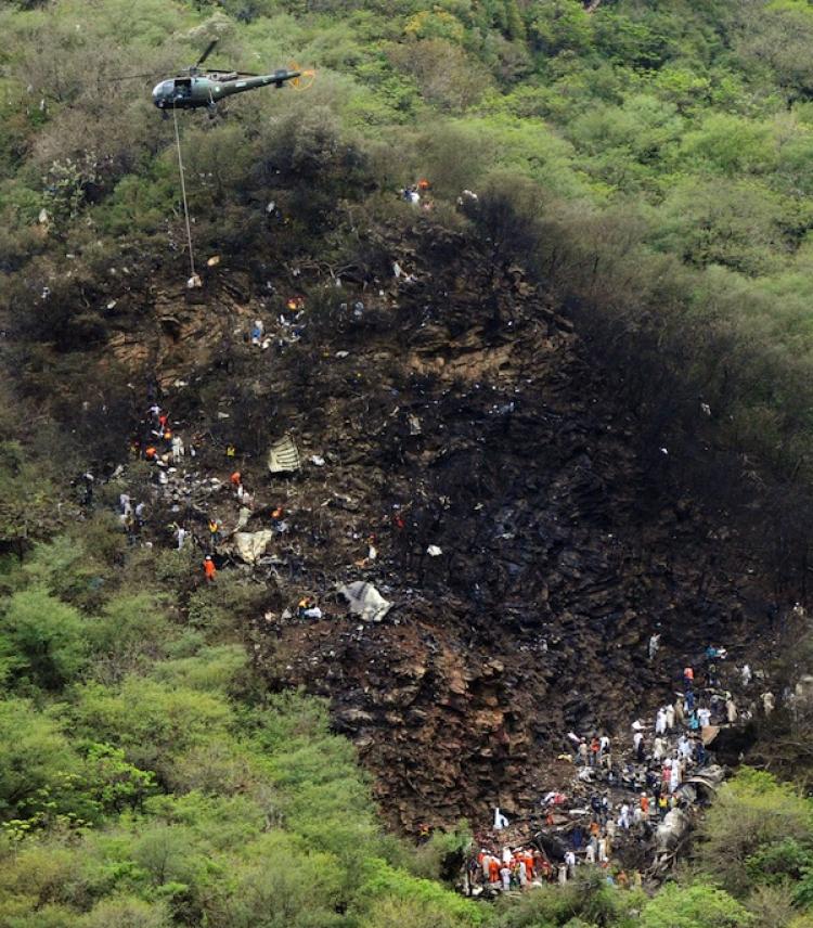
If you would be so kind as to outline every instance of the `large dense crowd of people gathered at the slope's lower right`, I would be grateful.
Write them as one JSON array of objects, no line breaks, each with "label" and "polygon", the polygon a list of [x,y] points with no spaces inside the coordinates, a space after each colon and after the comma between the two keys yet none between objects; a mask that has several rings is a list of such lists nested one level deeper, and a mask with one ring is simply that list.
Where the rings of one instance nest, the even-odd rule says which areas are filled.
[{"label": "large dense crowd of people gathered at the slope's lower right", "polygon": [[[650,640],[650,659],[657,650]],[[724,648],[710,645],[706,649],[707,683],[719,685],[718,665],[726,658]],[[736,683],[746,692],[756,679],[748,663],[728,675],[732,686]],[[711,770],[705,742],[711,738],[714,726],[736,724],[749,712],[737,707],[727,689],[707,686],[698,691],[693,667],[684,667],[681,676],[682,692],[676,698],[659,707],[650,722],[635,720],[630,742],[624,739],[618,750],[614,751],[606,732],[568,733],[572,749],[559,759],[575,764],[573,796],[551,790],[542,798],[544,826],[530,850],[527,829],[520,847],[501,847],[503,836],[512,833],[508,821],[496,810],[493,832],[480,837],[478,852],[467,862],[469,894],[522,890],[545,880],[567,882],[584,864],[601,867],[607,879],[619,886],[642,884],[640,871],[628,873],[614,852],[620,851],[623,858],[623,850],[633,843],[649,847],[670,810],[685,811],[695,801],[696,794],[693,798],[684,784],[694,775],[702,776],[704,769]],[[773,711],[772,693],[763,693],[759,701],[765,714]],[[520,834],[514,833],[516,837]],[[641,859],[637,851],[632,856]]]}]

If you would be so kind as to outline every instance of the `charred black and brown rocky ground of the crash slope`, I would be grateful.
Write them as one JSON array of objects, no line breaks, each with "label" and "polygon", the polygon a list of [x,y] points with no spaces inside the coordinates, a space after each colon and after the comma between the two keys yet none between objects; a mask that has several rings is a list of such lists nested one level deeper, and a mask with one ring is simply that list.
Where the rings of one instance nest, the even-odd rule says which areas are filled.
[{"label": "charred black and brown rocky ground of the crash slope", "polygon": [[[624,733],[710,641],[760,646],[759,566],[724,514],[681,490],[668,454],[657,467],[641,455],[606,373],[519,268],[498,273],[438,230],[384,242],[389,261],[363,287],[306,261],[224,261],[191,296],[180,280],[132,285],[98,363],[155,372],[201,474],[225,479],[234,441],[249,530],[285,507],[246,634],[271,687],[330,700],[389,821],[525,814],[557,778],[568,730]],[[416,279],[397,281],[395,260]],[[258,315],[267,351],[246,338]],[[272,477],[264,449],[285,433],[304,468]],[[229,529],[236,502],[212,500]],[[202,527],[206,513],[186,515]],[[382,623],[347,615],[336,590],[353,579],[396,604]],[[291,617],[304,594],[322,620]]]}]

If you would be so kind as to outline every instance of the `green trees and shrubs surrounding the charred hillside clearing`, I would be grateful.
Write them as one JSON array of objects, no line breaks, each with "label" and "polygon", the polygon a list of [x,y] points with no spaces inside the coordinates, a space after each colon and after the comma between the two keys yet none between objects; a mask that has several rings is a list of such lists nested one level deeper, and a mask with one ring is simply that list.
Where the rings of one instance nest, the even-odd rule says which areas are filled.
[{"label": "green trees and shrubs surrounding the charred hillside clearing", "polygon": [[[319,79],[237,99],[211,124],[183,117],[202,250],[240,253],[259,275],[318,241],[325,263],[373,273],[366,230],[415,221],[397,191],[429,178],[422,221],[479,230],[496,263],[534,268],[657,444],[683,428],[770,471],[770,553],[798,576],[813,477],[813,9],[18,0],[0,27],[14,336],[0,425],[16,439],[0,448],[0,925],[811,924],[810,802],[752,772],[725,787],[694,869],[651,900],[597,875],[493,910],[456,898],[436,878],[463,838],[416,853],[384,835],[322,706],[254,679],[241,619],[260,590],[197,588],[182,553],[126,549],[104,500],[87,519],[57,504],[67,474],[125,447],[124,378],[91,383],[82,363],[117,324],[107,294],[122,275],[184,273],[171,124],[153,81],[111,78],[171,73],[217,34],[224,63],[296,57]],[[468,216],[464,188],[480,196]],[[286,222],[270,229],[272,198]],[[121,433],[99,434],[79,388],[121,413]]]}]

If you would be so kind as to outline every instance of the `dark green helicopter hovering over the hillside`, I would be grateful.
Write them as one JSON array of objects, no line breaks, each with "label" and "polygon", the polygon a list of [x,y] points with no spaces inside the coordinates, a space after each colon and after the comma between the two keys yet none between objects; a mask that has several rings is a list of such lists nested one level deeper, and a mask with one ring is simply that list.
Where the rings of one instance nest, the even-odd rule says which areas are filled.
[{"label": "dark green helicopter hovering over the hillside", "polygon": [[[162,111],[165,118],[167,112],[171,109],[204,107],[209,111],[209,116],[214,117],[217,113],[217,104],[227,96],[269,85],[281,88],[286,81],[291,81],[294,87],[299,87],[302,76],[313,77],[313,72],[288,68],[280,68],[272,74],[203,69],[201,65],[211,54],[217,43],[218,40],[212,39],[193,65],[182,68],[176,77],[162,80],[153,88],[153,104]],[[133,77],[149,76],[133,75]]]}]

